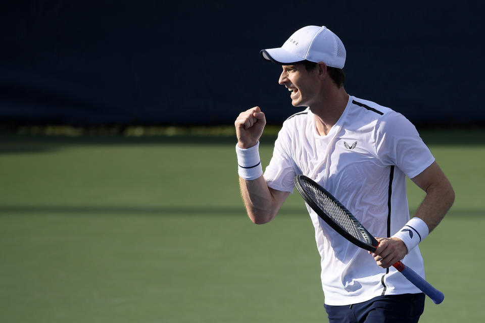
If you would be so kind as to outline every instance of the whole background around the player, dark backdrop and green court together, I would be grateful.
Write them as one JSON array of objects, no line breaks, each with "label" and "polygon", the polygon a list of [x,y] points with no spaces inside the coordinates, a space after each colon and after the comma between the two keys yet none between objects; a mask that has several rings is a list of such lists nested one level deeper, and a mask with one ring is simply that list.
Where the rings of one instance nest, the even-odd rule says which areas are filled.
[{"label": "whole background around the player, dark backdrop and green court together", "polygon": [[266,113],[264,165],[300,111],[259,51],[306,25],[342,39],[347,92],[410,119],[455,188],[420,244],[445,293],[420,321],[480,321],[483,7],[1,2],[0,321],[325,322],[303,201],[252,224],[234,153],[240,111]]}]

